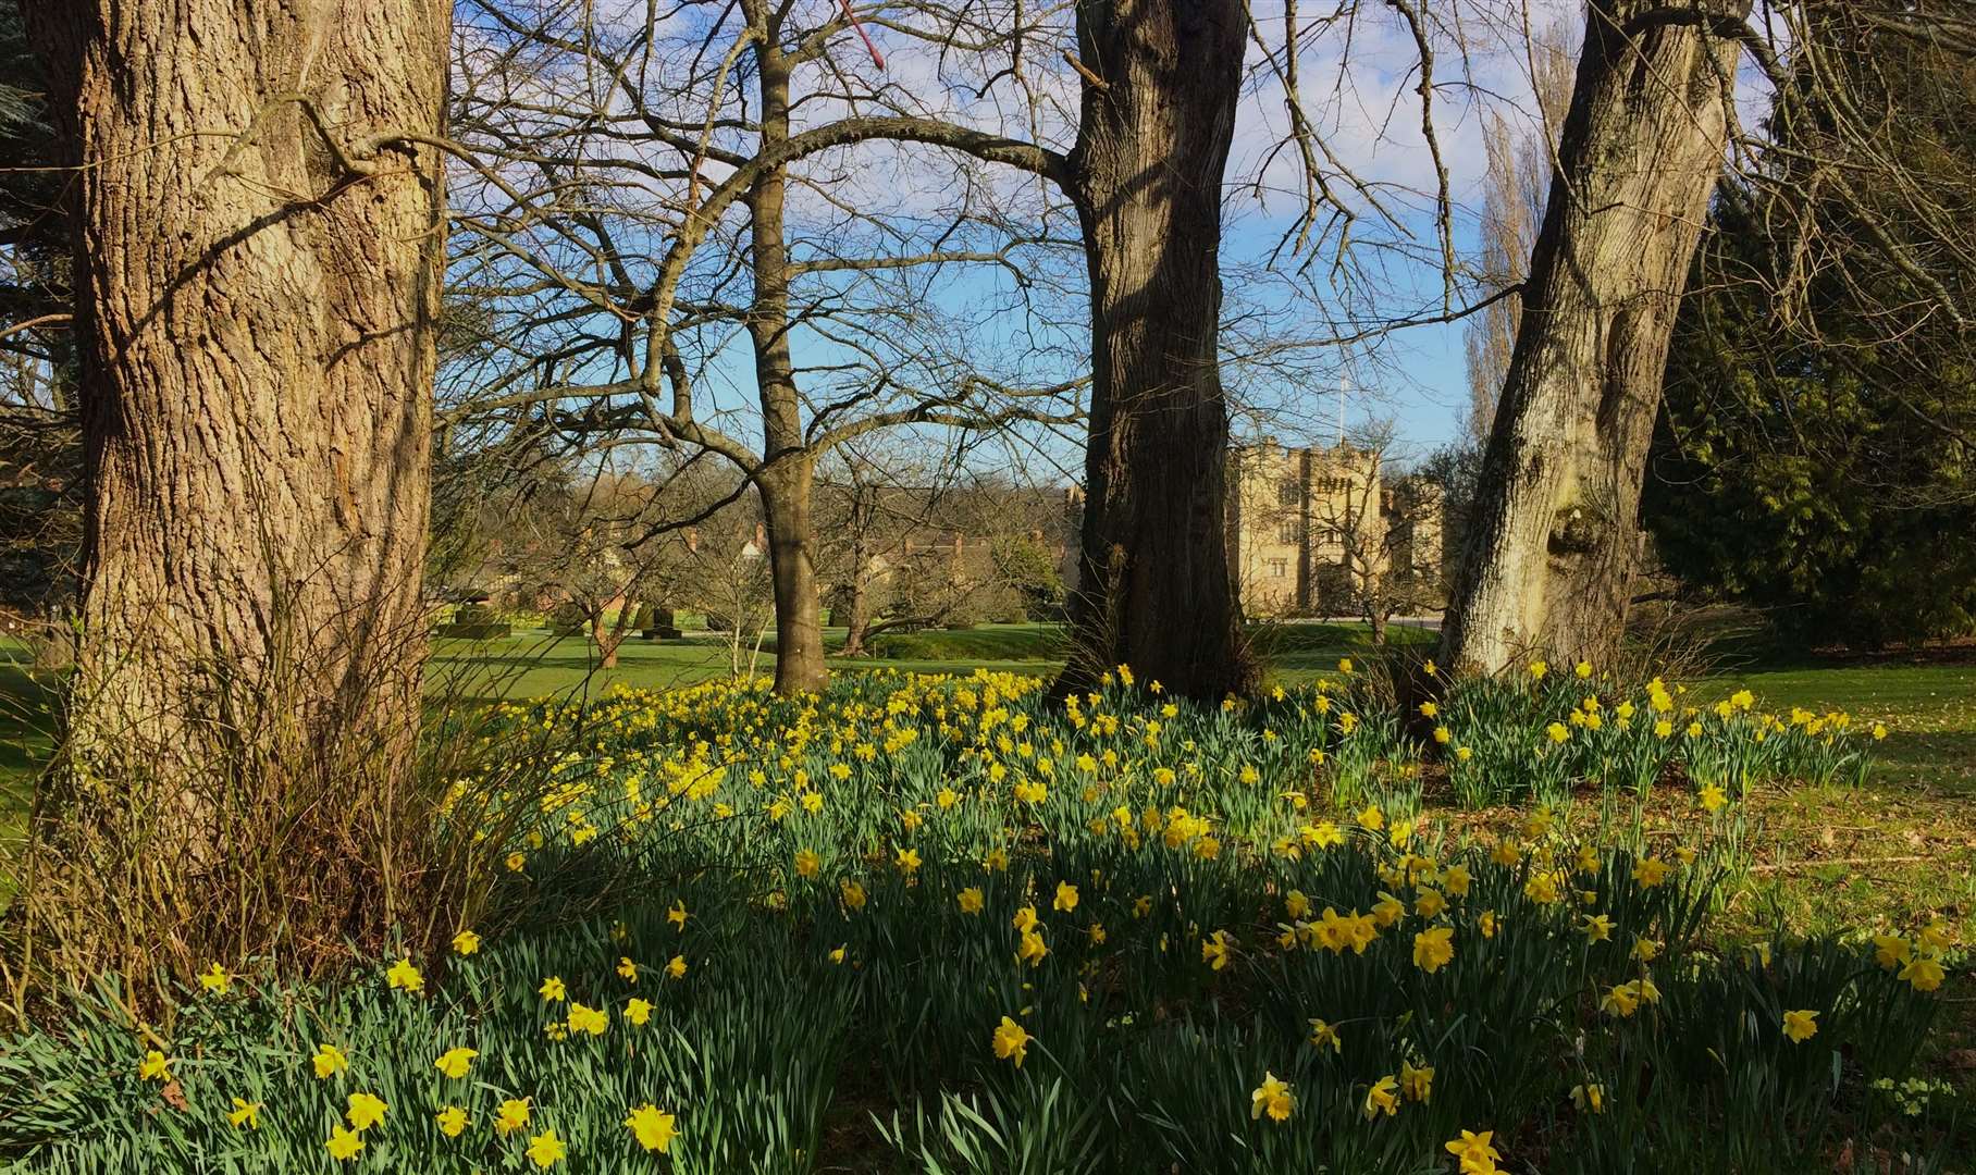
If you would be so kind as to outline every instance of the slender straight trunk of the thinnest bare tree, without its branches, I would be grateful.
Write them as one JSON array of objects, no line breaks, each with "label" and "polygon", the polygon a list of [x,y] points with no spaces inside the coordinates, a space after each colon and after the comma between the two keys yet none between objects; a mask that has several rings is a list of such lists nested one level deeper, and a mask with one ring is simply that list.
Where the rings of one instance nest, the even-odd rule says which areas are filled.
[{"label": "slender straight trunk of the thinnest bare tree, without its branches", "polygon": [[[763,150],[788,138],[788,61],[775,38],[757,45]],[[796,363],[788,352],[788,241],[782,235],[786,168],[769,168],[747,196],[755,302],[747,328],[755,342],[755,387],[763,417],[763,470],[755,480],[769,523],[775,577],[775,689],[790,697],[830,683],[824,616],[816,600],[816,531],[810,498],[816,472],[802,434]]]}]

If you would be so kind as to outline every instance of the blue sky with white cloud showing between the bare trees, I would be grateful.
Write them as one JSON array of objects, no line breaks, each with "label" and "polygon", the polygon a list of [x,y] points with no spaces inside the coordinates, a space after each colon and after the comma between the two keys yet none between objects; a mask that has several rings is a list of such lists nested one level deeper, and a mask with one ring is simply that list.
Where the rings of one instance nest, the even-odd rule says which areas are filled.
[{"label": "blue sky with white cloud showing between the bare trees", "polygon": [[[1448,0],[1437,4],[1442,14],[1460,10],[1460,45],[1452,43],[1456,30],[1448,24],[1437,45],[1441,73],[1433,97],[1433,124],[1441,142],[1441,164],[1452,201],[1452,235],[1458,257],[1470,255],[1476,241],[1478,182],[1484,170],[1480,126],[1488,111],[1504,111],[1535,128],[1527,115],[1529,83],[1518,47],[1520,30],[1543,28],[1559,14],[1577,10],[1579,0]],[[1269,30],[1280,30],[1280,0],[1251,0],[1261,39]],[[1275,8],[1275,10],[1273,10]],[[826,12],[818,0],[818,14]],[[711,10],[707,10],[711,12]],[[1470,12],[1474,16],[1470,16]],[[630,4],[626,18],[638,18],[642,4]],[[1306,18],[1308,20],[1308,18]],[[1450,18],[1452,20],[1452,18]],[[700,26],[703,32],[703,26]],[[1302,111],[1322,136],[1338,166],[1350,170],[1363,190],[1338,182],[1344,201],[1359,213],[1354,227],[1352,263],[1369,284],[1342,292],[1330,278],[1336,239],[1320,239],[1310,253],[1278,255],[1265,269],[1273,247],[1300,205],[1302,170],[1294,152],[1276,150],[1284,140],[1286,113],[1280,73],[1275,57],[1265,57],[1261,45],[1249,49],[1245,93],[1237,115],[1235,144],[1225,176],[1223,274],[1231,308],[1253,314],[1243,322],[1267,320],[1269,338],[1326,338],[1350,332],[1367,320],[1405,314],[1439,312],[1442,298],[1442,265],[1437,225],[1433,219],[1435,160],[1421,130],[1419,97],[1413,93],[1419,53],[1397,20],[1379,4],[1367,4],[1365,16],[1350,26],[1318,30],[1306,26],[1300,41]],[[864,77],[864,85],[885,87],[893,101],[905,99],[923,113],[992,128],[1016,138],[1041,140],[1059,150],[1075,136],[1077,77],[1057,67],[1043,67],[1031,79],[1041,91],[1041,103],[1018,105],[1008,95],[990,93],[986,101],[970,95],[966,69],[958,73],[950,59],[933,59],[919,45],[901,43],[885,30],[873,30],[887,53],[879,75],[852,34],[832,43],[830,69]],[[472,36],[472,34],[466,34]],[[698,39],[692,28],[682,36]],[[1278,45],[1280,49],[1280,45]],[[1033,53],[1031,61],[1055,61],[1051,53]],[[1454,61],[1450,65],[1448,61]],[[994,67],[994,63],[986,63]],[[830,101],[806,109],[804,122],[842,117],[844,107]],[[698,118],[698,115],[696,115]],[[737,144],[741,146],[741,144]],[[844,201],[883,201],[887,211],[901,209],[907,217],[927,209],[937,219],[952,196],[954,174],[941,164],[915,164],[907,150],[883,146],[858,148],[856,158],[816,160],[826,176],[844,176],[834,188]],[[810,164],[806,164],[810,166]],[[1020,186],[1024,178],[992,178],[992,186]],[[1028,180],[1035,184],[1035,180]],[[832,180],[836,184],[836,180]],[[1371,196],[1363,196],[1371,194]],[[794,199],[794,197],[792,197]],[[1373,201],[1385,205],[1381,215]],[[836,219],[828,201],[810,207],[792,203],[792,227],[810,217],[814,235],[828,235]],[[862,227],[862,225],[858,225]],[[1059,223],[1059,233],[1075,233]],[[1071,269],[1079,269],[1075,263]],[[1053,383],[1075,369],[1077,353],[1087,346],[1087,306],[1075,294],[1061,298],[1029,320],[1020,314],[988,314],[990,306],[1010,290],[1010,278],[990,267],[966,273],[948,271],[939,286],[923,296],[962,320],[966,344],[980,361],[996,373],[1029,383]],[[1474,288],[1454,292],[1454,304],[1472,302]],[[1229,314],[1223,316],[1225,320]],[[1033,334],[1051,336],[1053,348],[1037,350]],[[1225,348],[1239,348],[1241,334],[1227,332]],[[794,336],[798,365],[828,365],[834,361],[830,342]],[[1371,419],[1391,419],[1399,429],[1401,450],[1395,456],[1423,456],[1444,444],[1462,427],[1468,389],[1462,357],[1462,326],[1417,326],[1385,336],[1375,346],[1336,348],[1308,346],[1271,352],[1276,359],[1271,373],[1231,363],[1223,383],[1231,395],[1253,411],[1237,419],[1237,434],[1276,434],[1284,440],[1312,442],[1336,436],[1338,377],[1348,373],[1352,397],[1348,419],[1361,425]],[[601,379],[609,375],[599,373]],[[723,417],[725,427],[739,434],[755,432],[753,371],[745,336],[727,330],[719,352],[701,371],[703,419]],[[1073,438],[1049,444],[1047,462],[1075,470]]]}]

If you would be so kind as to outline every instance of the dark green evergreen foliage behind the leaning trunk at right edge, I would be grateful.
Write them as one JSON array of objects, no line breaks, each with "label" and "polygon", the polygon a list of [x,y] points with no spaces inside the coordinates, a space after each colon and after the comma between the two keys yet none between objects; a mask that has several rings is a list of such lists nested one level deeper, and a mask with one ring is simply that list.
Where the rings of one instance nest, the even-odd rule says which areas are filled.
[{"label": "dark green evergreen foliage behind the leaning trunk at right edge", "polygon": [[[1822,20],[1828,73],[1770,115],[1796,154],[1725,182],[1697,255],[1642,519],[1670,571],[1770,610],[1786,636],[1964,636],[1976,63],[1846,10]],[[1844,120],[1871,124],[1877,154],[1848,146]],[[1834,158],[1859,168],[1850,186],[1832,182]]]}]

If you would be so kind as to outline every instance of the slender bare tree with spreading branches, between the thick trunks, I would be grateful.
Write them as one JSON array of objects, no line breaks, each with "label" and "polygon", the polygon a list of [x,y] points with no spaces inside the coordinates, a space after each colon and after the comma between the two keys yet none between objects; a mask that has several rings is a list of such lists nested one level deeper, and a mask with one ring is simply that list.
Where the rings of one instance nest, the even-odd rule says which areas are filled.
[{"label": "slender bare tree with spreading branches, between the thick trunks", "polygon": [[[903,87],[832,57],[850,32],[840,10],[476,12],[460,65],[460,154],[484,196],[466,217],[484,243],[470,263],[530,346],[458,415],[733,462],[769,531],[777,687],[822,687],[818,460],[889,427],[1075,417],[1083,379],[996,379],[958,359],[937,308],[956,267],[1029,280],[1016,251],[1045,243],[998,223],[978,162],[1051,172],[1061,156],[913,113]],[[980,34],[974,16],[956,26],[919,4],[865,20],[948,47]],[[1020,39],[1026,18],[1012,20],[996,36]],[[873,144],[937,148],[913,160],[947,170],[952,199],[889,213],[850,197],[852,160],[875,158],[856,148]],[[737,332],[753,365],[747,413],[719,395]]]}]

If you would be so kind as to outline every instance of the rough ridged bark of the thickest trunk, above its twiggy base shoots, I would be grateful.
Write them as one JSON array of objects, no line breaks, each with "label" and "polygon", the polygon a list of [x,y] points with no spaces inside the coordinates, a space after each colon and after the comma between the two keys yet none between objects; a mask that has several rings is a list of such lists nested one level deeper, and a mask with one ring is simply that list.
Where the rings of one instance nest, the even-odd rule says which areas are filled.
[{"label": "rough ridged bark of the thickest trunk, above its twiggy base shoots", "polygon": [[277,725],[391,770],[419,729],[445,251],[439,158],[389,132],[441,126],[447,6],[28,18],[79,164],[73,746],[164,800]]}]

